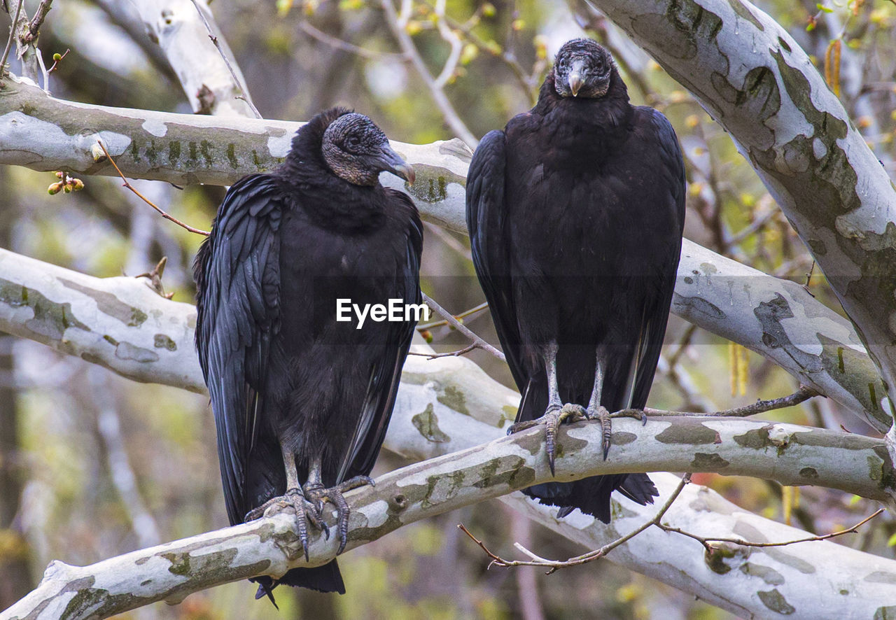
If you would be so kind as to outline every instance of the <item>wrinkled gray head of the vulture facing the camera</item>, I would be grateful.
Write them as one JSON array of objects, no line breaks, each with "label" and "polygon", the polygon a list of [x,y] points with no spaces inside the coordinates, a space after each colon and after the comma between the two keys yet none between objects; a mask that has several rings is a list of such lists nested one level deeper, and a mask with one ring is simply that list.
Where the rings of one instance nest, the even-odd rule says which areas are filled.
[{"label": "wrinkled gray head of the vulture facing the camera", "polygon": [[613,56],[591,39],[564,43],[554,61],[554,88],[561,97],[598,99],[607,94]]}]

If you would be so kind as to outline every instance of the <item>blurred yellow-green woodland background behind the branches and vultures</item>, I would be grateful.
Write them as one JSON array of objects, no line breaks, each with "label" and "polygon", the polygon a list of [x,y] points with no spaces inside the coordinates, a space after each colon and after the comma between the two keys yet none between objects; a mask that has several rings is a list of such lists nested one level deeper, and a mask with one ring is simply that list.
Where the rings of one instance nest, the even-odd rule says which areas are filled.
[{"label": "blurred yellow-green woodland background behind the branches and vultures", "polygon": [[[35,4],[26,4],[29,14]],[[892,174],[896,5],[885,0],[758,4],[813,57]],[[806,284],[840,311],[823,275],[813,269],[728,135],[659,65],[579,0],[403,0],[391,25],[383,5],[373,0],[218,0],[211,8],[263,116],[306,120],[323,108],[348,105],[404,142],[452,138],[458,123],[477,137],[502,127],[530,108],[556,49],[587,33],[611,49],[633,102],[659,108],[675,125],[689,181],[686,236]],[[4,20],[5,27],[9,19]],[[423,61],[428,80],[410,62],[395,29],[411,35],[411,51]],[[39,47],[45,57],[71,49],[50,83],[58,98],[192,111],[127,3],[56,0]],[[12,69],[18,73],[14,61]],[[451,109],[435,105],[426,85],[434,78]],[[191,263],[202,238],[159,219],[116,179],[82,180],[81,192],[48,195],[47,185],[56,182],[52,174],[0,168],[0,246],[96,276],[136,276],[167,256],[165,288],[177,300],[192,301]],[[220,187],[135,185],[199,228],[210,226],[223,195]],[[452,312],[483,301],[469,256],[465,237],[427,224],[423,288]],[[487,312],[465,321],[496,342]],[[445,327],[428,332],[437,350],[466,344]],[[797,387],[762,357],[676,317],[670,319],[667,343],[651,393],[653,407],[726,409]],[[499,381],[513,384],[496,359],[481,351],[471,357]],[[822,399],[767,417],[870,432]],[[377,470],[401,464],[400,457],[383,452]],[[746,509],[819,533],[872,510],[865,500],[824,489],[795,494],[762,480],[695,478]],[[508,552],[514,540],[548,557],[581,552],[491,502],[412,525],[345,555],[340,564],[349,593],[342,597],[280,589],[277,614],[266,601],[252,600],[248,583],[235,583],[191,595],[178,606],[158,604],[123,617],[730,617],[607,562],[551,576],[534,569],[487,571],[487,557],[458,533],[460,521],[499,552]],[[0,336],[0,608],[30,590],[53,559],[90,564],[226,524],[205,398],[131,383],[34,342]],[[862,533],[837,541],[893,556],[894,532],[896,524],[881,517]]]}]

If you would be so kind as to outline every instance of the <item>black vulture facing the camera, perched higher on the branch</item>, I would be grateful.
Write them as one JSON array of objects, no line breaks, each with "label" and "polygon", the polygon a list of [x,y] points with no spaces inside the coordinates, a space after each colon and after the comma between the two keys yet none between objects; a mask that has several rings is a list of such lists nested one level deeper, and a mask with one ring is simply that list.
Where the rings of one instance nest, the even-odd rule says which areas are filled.
[{"label": "black vulture facing the camera, perched higher on the branch", "polygon": [[[546,423],[552,471],[562,420],[600,418],[606,458],[607,410],[647,401],[684,220],[672,126],[629,104],[590,39],[567,42],[536,106],[479,143],[467,178],[473,263],[522,394],[512,431]],[[641,504],[657,495],[642,473],[526,492],[561,516],[580,508],[608,522],[615,489]]]}]

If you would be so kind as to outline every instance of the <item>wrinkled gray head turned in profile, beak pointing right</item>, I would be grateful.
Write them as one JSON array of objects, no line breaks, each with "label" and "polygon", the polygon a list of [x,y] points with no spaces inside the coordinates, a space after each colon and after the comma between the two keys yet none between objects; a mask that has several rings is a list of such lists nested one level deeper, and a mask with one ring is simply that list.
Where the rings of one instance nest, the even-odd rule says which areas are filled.
[{"label": "wrinkled gray head turned in profile, beak pointing right", "polygon": [[375,123],[357,112],[339,116],[323,132],[323,159],[338,177],[354,185],[376,185],[383,171],[413,185],[414,168],[392,151]]}]

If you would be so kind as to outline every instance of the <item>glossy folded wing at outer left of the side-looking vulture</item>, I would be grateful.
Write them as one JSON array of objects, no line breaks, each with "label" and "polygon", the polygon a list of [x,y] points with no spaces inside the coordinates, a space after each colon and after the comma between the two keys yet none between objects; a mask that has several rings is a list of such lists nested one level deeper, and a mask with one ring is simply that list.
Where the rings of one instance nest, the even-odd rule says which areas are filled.
[{"label": "glossy folded wing at outer left of the side-looking vulture", "polygon": [[263,409],[271,338],[280,327],[280,227],[276,181],[244,177],[221,203],[196,256],[196,349],[218,434],[228,518],[242,523],[246,460]]}]

